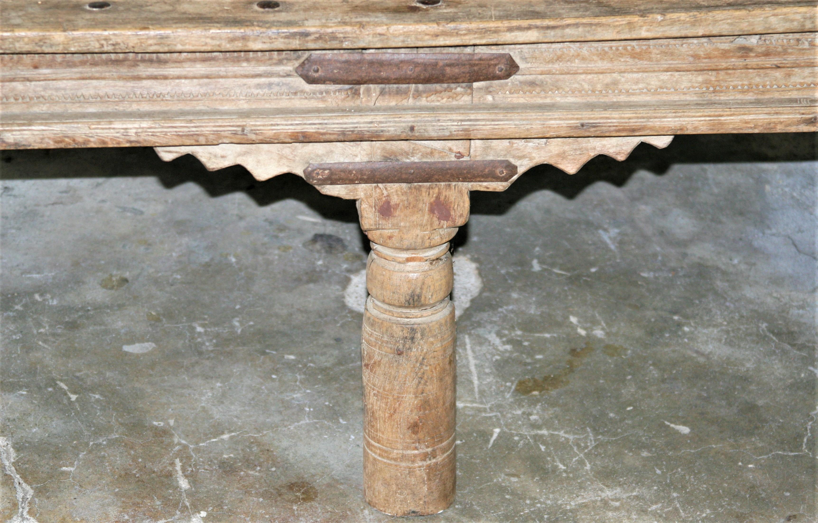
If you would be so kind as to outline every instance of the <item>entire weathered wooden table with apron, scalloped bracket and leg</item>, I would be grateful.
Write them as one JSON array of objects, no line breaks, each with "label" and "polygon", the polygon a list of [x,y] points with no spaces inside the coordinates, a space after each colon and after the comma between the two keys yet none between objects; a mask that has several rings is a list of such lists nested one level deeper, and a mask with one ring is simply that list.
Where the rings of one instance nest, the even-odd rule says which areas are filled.
[{"label": "entire weathered wooden table with apron, scalloped bracket and leg", "polygon": [[470,190],[641,141],[814,132],[816,0],[0,0],[0,148],[149,145],[358,200],[364,494],[455,494]]}]

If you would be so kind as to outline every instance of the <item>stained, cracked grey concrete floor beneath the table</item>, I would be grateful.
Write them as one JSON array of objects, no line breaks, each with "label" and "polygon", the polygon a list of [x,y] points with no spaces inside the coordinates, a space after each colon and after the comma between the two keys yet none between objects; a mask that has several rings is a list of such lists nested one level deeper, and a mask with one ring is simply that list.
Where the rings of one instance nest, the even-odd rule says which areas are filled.
[{"label": "stained, cracked grey concrete floor beneath the table", "polygon": [[[816,521],[815,151],[681,136],[474,193],[457,498],[424,521]],[[353,202],[148,149],[2,159],[0,521],[392,519]]]}]

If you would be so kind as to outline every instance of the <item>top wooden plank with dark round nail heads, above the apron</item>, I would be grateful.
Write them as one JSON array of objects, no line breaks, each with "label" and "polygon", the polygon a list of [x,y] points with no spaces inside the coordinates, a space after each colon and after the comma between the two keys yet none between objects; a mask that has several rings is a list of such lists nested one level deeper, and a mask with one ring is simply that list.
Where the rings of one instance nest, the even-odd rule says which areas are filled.
[{"label": "top wooden plank with dark round nail heads, above the apron", "polygon": [[[434,1],[434,0],[433,0]],[[0,0],[0,53],[276,51],[818,29],[816,0]]]}]

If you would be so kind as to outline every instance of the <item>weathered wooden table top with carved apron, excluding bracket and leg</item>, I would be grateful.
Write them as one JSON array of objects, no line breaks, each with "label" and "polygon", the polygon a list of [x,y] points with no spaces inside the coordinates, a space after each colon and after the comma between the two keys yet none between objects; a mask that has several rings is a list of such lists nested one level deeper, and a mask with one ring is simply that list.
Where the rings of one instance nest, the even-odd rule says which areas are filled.
[{"label": "weathered wooden table top with carved apron, excluding bracket and leg", "polygon": [[[8,148],[815,128],[814,1],[0,6]],[[384,47],[509,53],[519,72],[385,87],[294,72],[312,50]]]}]

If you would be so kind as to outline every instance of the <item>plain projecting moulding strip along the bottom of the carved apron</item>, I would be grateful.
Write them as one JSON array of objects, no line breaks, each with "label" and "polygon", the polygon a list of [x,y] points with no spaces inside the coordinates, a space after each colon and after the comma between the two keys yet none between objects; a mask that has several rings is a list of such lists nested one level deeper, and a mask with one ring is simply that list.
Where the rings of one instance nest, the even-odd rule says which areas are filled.
[{"label": "plain projecting moulding strip along the bottom of the carved apron", "polygon": [[816,100],[800,97],[15,116],[4,118],[0,149],[818,131]]}]

